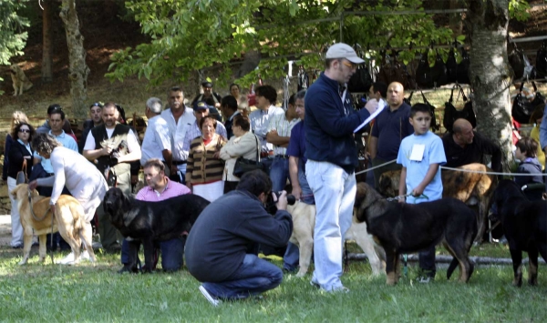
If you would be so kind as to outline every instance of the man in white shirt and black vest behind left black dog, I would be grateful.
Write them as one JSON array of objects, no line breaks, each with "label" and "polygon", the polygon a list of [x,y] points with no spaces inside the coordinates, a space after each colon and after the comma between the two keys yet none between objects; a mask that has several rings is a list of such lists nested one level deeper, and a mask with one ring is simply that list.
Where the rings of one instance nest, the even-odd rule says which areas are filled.
[{"label": "man in white shirt and black vest behind left black dog", "polygon": [[[107,179],[108,187],[119,187],[124,194],[131,193],[131,174],[129,163],[140,159],[140,146],[137,136],[129,128],[118,122],[116,105],[108,102],[102,109],[103,125],[89,132],[83,155],[95,164]],[[119,235],[112,226],[103,207],[98,207],[98,234],[102,247],[107,252],[118,252]]]}]

